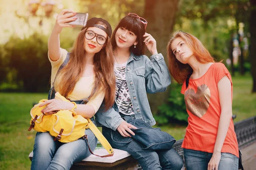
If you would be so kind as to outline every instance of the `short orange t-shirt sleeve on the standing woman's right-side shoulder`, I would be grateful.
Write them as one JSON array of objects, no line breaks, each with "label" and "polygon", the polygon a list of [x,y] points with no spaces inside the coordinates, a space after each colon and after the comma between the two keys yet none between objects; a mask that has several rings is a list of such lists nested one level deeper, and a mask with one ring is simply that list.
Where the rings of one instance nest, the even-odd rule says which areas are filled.
[{"label": "short orange t-shirt sleeve on the standing woman's right-side shoulder", "polygon": [[233,85],[230,72],[228,71],[227,67],[223,63],[215,63],[214,75],[215,75],[216,84],[218,84],[221,78],[227,75],[227,77],[230,79],[231,86]]}]

